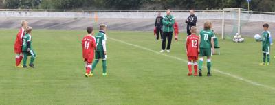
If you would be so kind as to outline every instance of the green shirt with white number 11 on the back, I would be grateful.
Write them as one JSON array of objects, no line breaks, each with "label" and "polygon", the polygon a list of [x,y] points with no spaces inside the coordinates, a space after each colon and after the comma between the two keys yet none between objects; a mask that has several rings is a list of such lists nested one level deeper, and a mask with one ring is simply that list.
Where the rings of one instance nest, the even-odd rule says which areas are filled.
[{"label": "green shirt with white number 11 on the back", "polygon": [[200,48],[211,48],[211,38],[214,38],[214,32],[212,30],[201,30],[199,33],[201,37],[201,43],[199,45]]}]

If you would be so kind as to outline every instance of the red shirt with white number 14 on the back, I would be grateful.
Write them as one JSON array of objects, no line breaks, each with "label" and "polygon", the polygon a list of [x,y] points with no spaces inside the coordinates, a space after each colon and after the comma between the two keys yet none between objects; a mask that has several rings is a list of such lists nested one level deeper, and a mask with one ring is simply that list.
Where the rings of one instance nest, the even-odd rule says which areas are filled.
[{"label": "red shirt with white number 14 on the back", "polygon": [[94,58],[94,50],[96,49],[96,38],[91,35],[86,35],[82,40],[83,58]]}]

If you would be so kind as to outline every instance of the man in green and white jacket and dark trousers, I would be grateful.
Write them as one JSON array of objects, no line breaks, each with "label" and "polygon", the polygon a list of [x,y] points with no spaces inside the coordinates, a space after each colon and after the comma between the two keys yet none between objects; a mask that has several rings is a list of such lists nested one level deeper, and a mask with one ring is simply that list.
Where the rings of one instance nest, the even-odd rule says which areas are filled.
[{"label": "man in green and white jacket and dark trousers", "polygon": [[160,52],[164,52],[165,47],[166,47],[166,39],[168,40],[167,48],[166,51],[170,52],[170,46],[172,42],[172,37],[173,37],[173,25],[175,23],[174,17],[170,14],[170,10],[167,10],[167,15],[164,16],[162,19],[162,30],[163,30],[163,40],[162,40],[162,50]]}]

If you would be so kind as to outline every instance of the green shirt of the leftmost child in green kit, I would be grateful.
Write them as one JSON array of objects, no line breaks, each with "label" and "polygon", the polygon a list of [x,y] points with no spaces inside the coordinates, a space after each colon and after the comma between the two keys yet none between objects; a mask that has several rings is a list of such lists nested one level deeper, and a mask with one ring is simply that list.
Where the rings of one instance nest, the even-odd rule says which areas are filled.
[{"label": "green shirt of the leftmost child in green kit", "polygon": [[28,51],[28,48],[30,48],[30,50],[32,50],[32,36],[27,33],[23,36],[22,51]]}]

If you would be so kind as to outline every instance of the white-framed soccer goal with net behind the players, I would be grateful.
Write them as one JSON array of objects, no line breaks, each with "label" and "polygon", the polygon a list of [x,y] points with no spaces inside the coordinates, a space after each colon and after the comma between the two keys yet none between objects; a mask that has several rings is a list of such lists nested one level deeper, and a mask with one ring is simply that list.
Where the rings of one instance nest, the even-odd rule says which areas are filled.
[{"label": "white-framed soccer goal with net behind the players", "polygon": [[221,37],[223,39],[232,39],[236,34],[242,35],[241,29],[247,25],[251,16],[251,10],[223,8]]}]

